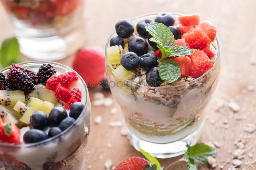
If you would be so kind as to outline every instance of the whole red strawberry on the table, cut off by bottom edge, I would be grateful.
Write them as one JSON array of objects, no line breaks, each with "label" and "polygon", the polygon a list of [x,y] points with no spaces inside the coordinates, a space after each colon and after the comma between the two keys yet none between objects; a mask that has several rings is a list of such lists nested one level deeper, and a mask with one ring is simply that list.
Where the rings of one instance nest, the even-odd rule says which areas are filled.
[{"label": "whole red strawberry on the table, cut off by bottom edge", "polygon": [[122,170],[122,169],[144,170],[147,164],[152,166],[152,163],[149,162],[148,160],[138,156],[133,156],[121,162],[119,165],[115,167],[114,170]]}]

